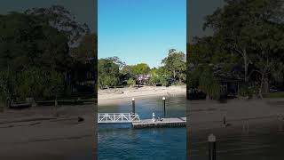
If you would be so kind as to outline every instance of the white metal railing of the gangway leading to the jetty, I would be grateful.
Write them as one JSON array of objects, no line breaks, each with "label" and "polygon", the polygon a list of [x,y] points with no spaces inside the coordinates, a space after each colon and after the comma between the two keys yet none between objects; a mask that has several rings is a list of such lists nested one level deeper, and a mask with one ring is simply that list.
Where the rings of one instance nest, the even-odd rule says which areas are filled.
[{"label": "white metal railing of the gangway leading to the jetty", "polygon": [[139,122],[140,117],[136,113],[99,113],[98,123],[132,123]]}]

